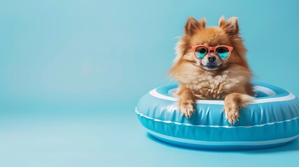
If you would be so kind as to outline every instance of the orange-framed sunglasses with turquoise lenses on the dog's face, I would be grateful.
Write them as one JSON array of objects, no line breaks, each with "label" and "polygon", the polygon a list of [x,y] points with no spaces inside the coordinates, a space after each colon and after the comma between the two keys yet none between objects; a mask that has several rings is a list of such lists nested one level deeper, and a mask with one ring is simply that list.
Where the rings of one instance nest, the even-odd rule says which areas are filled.
[{"label": "orange-framed sunglasses with turquoise lenses on the dog's face", "polygon": [[204,58],[210,51],[213,51],[215,54],[220,56],[222,60],[225,60],[231,56],[231,51],[233,50],[233,47],[229,47],[227,45],[219,45],[217,47],[208,47],[206,45],[195,45],[192,46],[192,51],[194,53],[194,56],[196,56],[199,59]]}]

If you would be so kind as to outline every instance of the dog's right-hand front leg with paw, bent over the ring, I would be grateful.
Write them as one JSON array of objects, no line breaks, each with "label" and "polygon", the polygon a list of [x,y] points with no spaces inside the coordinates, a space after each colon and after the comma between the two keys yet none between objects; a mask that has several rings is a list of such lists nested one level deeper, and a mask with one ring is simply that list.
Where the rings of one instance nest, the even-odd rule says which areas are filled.
[{"label": "dog's right-hand front leg with paw, bent over the ring", "polygon": [[240,117],[240,107],[246,106],[252,102],[254,97],[242,93],[231,93],[224,98],[224,113],[225,118],[231,125],[235,124]]}]

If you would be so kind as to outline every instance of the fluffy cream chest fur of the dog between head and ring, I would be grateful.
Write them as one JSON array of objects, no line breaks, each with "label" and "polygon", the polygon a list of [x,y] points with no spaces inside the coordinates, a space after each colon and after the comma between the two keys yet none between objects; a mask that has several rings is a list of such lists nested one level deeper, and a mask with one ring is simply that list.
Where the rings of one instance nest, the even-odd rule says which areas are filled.
[{"label": "fluffy cream chest fur of the dog between head and ring", "polygon": [[199,99],[224,99],[229,93],[243,92],[243,76],[230,76],[228,73],[211,75],[208,72],[203,74],[187,74],[185,86],[192,90],[192,93]]}]

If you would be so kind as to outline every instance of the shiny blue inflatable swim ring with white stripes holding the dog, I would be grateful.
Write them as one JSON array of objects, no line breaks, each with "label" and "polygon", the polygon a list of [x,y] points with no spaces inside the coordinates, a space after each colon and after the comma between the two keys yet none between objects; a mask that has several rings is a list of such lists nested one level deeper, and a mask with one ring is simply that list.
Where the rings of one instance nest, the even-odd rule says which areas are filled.
[{"label": "shiny blue inflatable swim ring with white stripes holding the dog", "polygon": [[235,125],[225,120],[223,100],[197,100],[187,119],[177,111],[177,85],[151,90],[135,111],[149,134],[190,148],[252,149],[288,143],[299,136],[299,100],[287,90],[254,84],[256,99],[240,109]]}]

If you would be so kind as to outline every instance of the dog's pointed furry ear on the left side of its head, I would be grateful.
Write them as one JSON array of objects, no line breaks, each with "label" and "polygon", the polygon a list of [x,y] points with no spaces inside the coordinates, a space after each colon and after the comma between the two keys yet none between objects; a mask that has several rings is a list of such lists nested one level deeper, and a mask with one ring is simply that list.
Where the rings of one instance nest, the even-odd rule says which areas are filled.
[{"label": "dog's pointed furry ear on the left side of its head", "polygon": [[206,27],[206,19],[201,19],[201,22],[197,21],[193,17],[189,17],[185,25],[185,35],[191,36],[200,29]]}]

